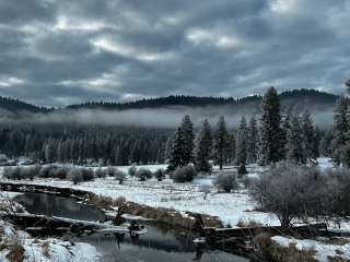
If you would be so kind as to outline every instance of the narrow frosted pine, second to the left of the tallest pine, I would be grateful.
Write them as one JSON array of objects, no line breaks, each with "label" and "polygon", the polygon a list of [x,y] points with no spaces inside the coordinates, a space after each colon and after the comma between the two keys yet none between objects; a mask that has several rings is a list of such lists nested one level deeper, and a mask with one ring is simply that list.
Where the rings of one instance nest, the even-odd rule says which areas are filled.
[{"label": "narrow frosted pine, second to the left of the tallest pine", "polygon": [[245,166],[247,164],[247,122],[245,117],[242,117],[236,140],[236,164]]}]

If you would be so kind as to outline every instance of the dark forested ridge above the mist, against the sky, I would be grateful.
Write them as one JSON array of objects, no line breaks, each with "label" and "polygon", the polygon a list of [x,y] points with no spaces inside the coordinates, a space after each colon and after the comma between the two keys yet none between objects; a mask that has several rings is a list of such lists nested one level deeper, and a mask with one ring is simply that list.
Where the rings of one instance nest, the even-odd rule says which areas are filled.
[{"label": "dark forested ridge above the mist, against the sky", "polygon": [[[334,107],[338,95],[320,92],[316,90],[293,90],[282,92],[280,95],[282,107],[305,108],[312,107]],[[261,96],[246,96],[242,98],[233,97],[199,97],[185,95],[171,95],[167,97],[147,98],[136,102],[113,103],[113,102],[88,102],[83,104],[70,105],[60,110],[67,109],[104,109],[104,110],[127,110],[127,109],[154,109],[161,107],[220,107],[226,106],[230,108],[240,108],[248,105],[252,108],[259,110]],[[19,99],[0,96],[0,108],[8,111],[28,111],[28,112],[48,112],[57,109],[48,109],[38,107]]]}]

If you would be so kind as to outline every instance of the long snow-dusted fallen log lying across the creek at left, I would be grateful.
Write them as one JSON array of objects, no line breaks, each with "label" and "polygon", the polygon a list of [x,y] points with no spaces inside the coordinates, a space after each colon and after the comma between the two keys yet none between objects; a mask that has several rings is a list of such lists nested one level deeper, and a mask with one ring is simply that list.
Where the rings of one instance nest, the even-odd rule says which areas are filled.
[{"label": "long snow-dusted fallen log lying across the creek at left", "polygon": [[132,236],[139,236],[144,235],[148,231],[147,228],[131,229],[127,224],[114,226],[108,223],[34,215],[28,213],[1,214],[1,216],[24,229],[30,229],[30,231],[50,233],[54,235],[70,231],[78,235],[88,233],[104,235],[130,234]]}]

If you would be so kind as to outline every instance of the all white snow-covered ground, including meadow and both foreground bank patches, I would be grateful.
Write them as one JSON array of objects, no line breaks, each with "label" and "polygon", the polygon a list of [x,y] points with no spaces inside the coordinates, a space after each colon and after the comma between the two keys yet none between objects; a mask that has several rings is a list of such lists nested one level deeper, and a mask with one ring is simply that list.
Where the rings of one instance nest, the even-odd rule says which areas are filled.
[{"label": "all white snow-covered ground, including meadow and both foreground bank patches", "polygon": [[[331,168],[332,164],[327,158],[319,158],[318,166],[322,169]],[[152,171],[158,168],[166,168],[165,165],[153,165],[153,166],[138,166],[138,168],[144,167],[149,168]],[[129,166],[118,167],[124,171],[128,171]],[[231,168],[232,169],[232,168]],[[218,170],[217,168],[214,169]],[[257,177],[259,172],[262,170],[259,166],[250,166],[248,168],[249,174],[248,177]],[[230,171],[230,168],[225,171]],[[224,225],[231,225],[235,227],[238,222],[257,222],[267,226],[280,225],[278,218],[271,213],[265,213],[256,211],[256,204],[248,195],[248,192],[245,189],[240,189],[232,193],[222,193],[218,192],[218,189],[213,186],[215,179],[215,174],[211,176],[199,176],[190,183],[175,183],[173,180],[166,178],[163,181],[156,181],[156,179],[152,178],[147,181],[139,181],[135,177],[127,176],[127,179],[122,184],[119,184],[117,180],[112,177],[107,178],[96,178],[93,181],[82,182],[80,184],[72,184],[71,181],[67,180],[57,180],[57,179],[35,179],[34,181],[24,181],[27,183],[35,184],[47,184],[55,187],[71,187],[75,189],[81,189],[85,191],[91,191],[102,196],[110,196],[113,199],[117,199],[119,196],[125,198],[128,201],[132,201],[139,204],[145,204],[153,207],[166,207],[174,209],[179,213],[185,213],[186,211],[196,212],[201,214],[207,214],[211,216],[218,216]],[[11,181],[14,182],[14,181]],[[212,186],[210,193],[205,199],[203,187]],[[342,223],[343,229],[350,228],[350,223]],[[336,254],[341,253],[341,258],[349,259],[350,258],[350,245],[346,243],[342,246],[339,245],[329,245],[322,241],[316,240],[298,240],[285,237],[273,237],[273,240],[281,246],[289,246],[289,243],[295,243],[298,249],[314,249],[316,251],[316,257],[319,261],[328,261],[327,257],[335,257]],[[65,245],[66,242],[61,242],[60,240],[48,239],[50,242],[49,247],[51,250],[51,258],[56,258],[57,253],[65,254]],[[26,246],[26,241],[23,242],[24,247]],[[40,249],[40,245],[34,245],[33,242],[28,242],[31,249],[33,251],[26,251],[27,255],[36,255],[38,253],[37,250]],[[68,250],[72,249],[70,247]],[[30,248],[26,248],[26,250]],[[61,250],[60,250],[61,249]],[[77,245],[73,248],[72,253],[80,253],[81,258],[84,257],[84,250],[89,249],[89,252],[93,254],[89,255],[92,258],[93,255],[97,255],[96,251],[92,247],[88,247],[83,243]],[[63,261],[89,261],[88,259],[83,260],[74,260],[77,257],[69,257],[71,254],[68,252],[67,260]],[[32,257],[28,257],[32,258]],[[34,258],[34,257],[33,257]],[[0,257],[1,259],[1,257]],[[62,261],[57,258],[57,261]],[[35,260],[37,261],[37,260]],[[46,261],[46,260],[38,260]],[[55,260],[49,260],[55,261]]]}]

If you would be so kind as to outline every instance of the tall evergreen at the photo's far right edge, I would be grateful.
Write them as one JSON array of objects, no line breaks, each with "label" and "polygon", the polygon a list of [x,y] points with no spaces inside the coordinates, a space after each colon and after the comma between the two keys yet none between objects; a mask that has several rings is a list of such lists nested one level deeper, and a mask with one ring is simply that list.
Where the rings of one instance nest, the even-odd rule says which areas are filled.
[{"label": "tall evergreen at the photo's far right edge", "polygon": [[337,109],[334,119],[334,141],[332,141],[332,159],[336,164],[341,162],[341,151],[347,142],[347,135],[349,132],[348,122],[348,98],[341,96],[337,103]]}]

